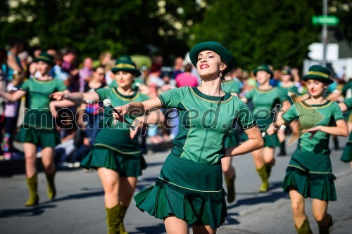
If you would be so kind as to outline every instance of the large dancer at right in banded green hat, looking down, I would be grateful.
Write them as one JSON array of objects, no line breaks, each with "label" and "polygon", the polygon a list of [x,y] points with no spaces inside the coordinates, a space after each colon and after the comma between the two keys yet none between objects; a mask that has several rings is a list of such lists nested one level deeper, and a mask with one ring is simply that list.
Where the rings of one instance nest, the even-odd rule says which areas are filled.
[{"label": "large dancer at right in banded green hat, looking down", "polygon": [[348,131],[339,105],[324,98],[327,86],[333,82],[329,75],[330,70],[326,67],[310,67],[303,77],[310,98],[295,103],[267,131],[272,134],[277,126],[288,125],[299,118],[300,138],[282,182],[282,188],[291,199],[294,224],[299,234],[312,233],[304,212],[304,199],[307,197],[313,198],[313,216],[318,222],[319,233],[329,233],[333,223],[332,216],[327,214],[329,201],[337,200],[329,157],[329,137],[330,134],[347,136]]}]

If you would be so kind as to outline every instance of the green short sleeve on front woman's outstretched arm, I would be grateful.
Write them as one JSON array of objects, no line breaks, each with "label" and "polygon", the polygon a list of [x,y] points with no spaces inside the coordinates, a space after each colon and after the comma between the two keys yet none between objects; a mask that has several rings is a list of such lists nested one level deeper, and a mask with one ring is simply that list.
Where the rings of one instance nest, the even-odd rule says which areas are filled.
[{"label": "green short sleeve on front woman's outstretched arm", "polygon": [[186,96],[189,89],[188,86],[170,89],[165,93],[161,93],[158,98],[161,100],[163,108],[177,108],[177,105],[181,102],[184,96]]}]

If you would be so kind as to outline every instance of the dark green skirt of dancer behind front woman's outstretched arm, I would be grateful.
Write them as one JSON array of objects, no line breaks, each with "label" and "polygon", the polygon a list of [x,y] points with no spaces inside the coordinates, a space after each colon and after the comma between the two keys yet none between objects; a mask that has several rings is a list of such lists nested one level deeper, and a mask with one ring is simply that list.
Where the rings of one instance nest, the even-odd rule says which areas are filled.
[{"label": "dark green skirt of dancer behind front woman's outstretched arm", "polygon": [[127,154],[108,145],[94,145],[92,150],[81,162],[86,169],[105,167],[118,172],[121,177],[138,177],[146,169],[146,161],[142,153]]}]

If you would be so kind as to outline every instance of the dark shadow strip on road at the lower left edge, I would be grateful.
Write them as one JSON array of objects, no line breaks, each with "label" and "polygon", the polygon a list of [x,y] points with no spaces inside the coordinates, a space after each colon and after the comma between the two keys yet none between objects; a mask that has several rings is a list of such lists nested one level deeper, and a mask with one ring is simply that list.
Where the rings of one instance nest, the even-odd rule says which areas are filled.
[{"label": "dark shadow strip on road at the lower left edge", "polygon": [[37,205],[32,208],[23,209],[2,209],[0,210],[0,219],[8,218],[11,216],[38,216],[45,212],[45,209],[55,208],[54,204]]}]

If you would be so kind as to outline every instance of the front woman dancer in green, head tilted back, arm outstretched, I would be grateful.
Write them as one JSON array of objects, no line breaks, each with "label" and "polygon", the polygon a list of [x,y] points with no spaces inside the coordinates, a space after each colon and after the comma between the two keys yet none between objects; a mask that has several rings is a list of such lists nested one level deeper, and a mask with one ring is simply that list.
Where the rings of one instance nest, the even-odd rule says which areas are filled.
[{"label": "front woman dancer in green, head tilted back, arm outstretched", "polygon": [[[263,138],[253,127],[253,117],[244,102],[221,89],[222,77],[234,65],[232,53],[221,44],[208,41],[196,44],[190,58],[203,79],[201,86],[171,89],[156,98],[115,110],[120,115],[154,108],[180,110],[180,131],[155,186],[141,190],[134,200],[142,211],[163,219],[167,233],[186,234],[188,225],[193,233],[216,233],[227,215],[221,159],[261,148]],[[239,122],[249,140],[225,148],[233,122]]]}]

